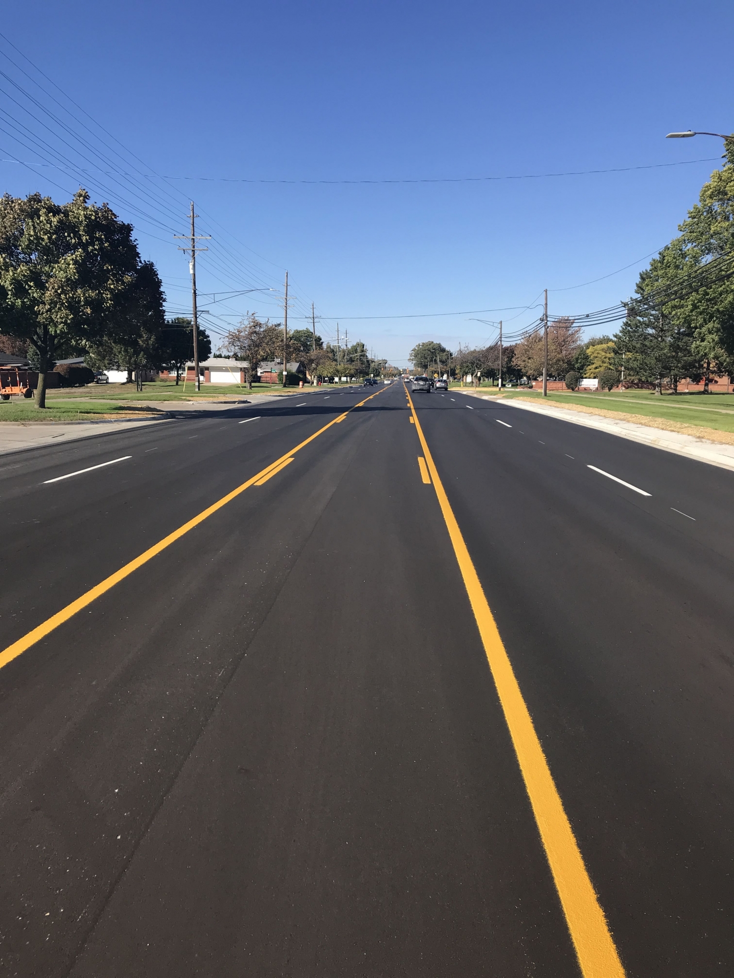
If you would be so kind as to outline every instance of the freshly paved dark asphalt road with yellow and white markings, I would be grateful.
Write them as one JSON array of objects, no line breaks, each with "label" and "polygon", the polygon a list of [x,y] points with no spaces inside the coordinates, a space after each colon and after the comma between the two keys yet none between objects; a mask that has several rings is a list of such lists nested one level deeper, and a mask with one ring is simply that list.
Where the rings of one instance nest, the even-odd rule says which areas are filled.
[{"label": "freshly paved dark asphalt road with yellow and white markings", "polygon": [[0,461],[3,974],[734,974],[734,473],[375,391]]}]

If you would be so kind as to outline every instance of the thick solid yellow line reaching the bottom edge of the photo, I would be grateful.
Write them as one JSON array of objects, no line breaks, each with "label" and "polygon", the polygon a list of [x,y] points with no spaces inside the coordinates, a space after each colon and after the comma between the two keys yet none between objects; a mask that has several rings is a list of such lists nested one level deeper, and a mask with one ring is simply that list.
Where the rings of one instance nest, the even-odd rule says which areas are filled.
[{"label": "thick solid yellow line reaching the bottom edge of the photo", "polygon": [[571,822],[564,811],[548,762],[532,724],[528,706],[502,643],[482,583],[459,524],[451,510],[431,451],[408,395],[421,445],[426,456],[438,505],[448,529],[454,554],[482,636],[487,662],[502,704],[510,736],[525,780],[532,812],[566,915],[573,947],[584,978],[623,978],[624,969],[578,850]]}]

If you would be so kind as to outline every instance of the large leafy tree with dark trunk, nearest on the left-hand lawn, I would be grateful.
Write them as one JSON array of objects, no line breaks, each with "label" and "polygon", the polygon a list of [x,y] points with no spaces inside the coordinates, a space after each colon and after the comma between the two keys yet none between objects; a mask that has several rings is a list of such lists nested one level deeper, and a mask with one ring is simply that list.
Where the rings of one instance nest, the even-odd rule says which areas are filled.
[{"label": "large leafy tree with dark trunk, nearest on the left-hand lawn", "polygon": [[35,354],[38,408],[56,358],[114,330],[140,266],[132,227],[84,190],[64,204],[40,194],[0,200],[0,330]]}]

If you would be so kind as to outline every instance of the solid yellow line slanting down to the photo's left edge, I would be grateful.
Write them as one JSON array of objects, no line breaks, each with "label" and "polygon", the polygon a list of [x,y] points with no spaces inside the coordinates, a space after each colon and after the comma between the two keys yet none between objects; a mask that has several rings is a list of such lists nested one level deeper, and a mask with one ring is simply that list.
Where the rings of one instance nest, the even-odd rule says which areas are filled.
[{"label": "solid yellow line slanting down to the photo's left edge", "polygon": [[[371,396],[377,397],[377,395],[381,392],[381,390],[378,390]],[[371,400],[370,397],[362,401],[360,404],[355,404],[354,407],[361,408],[369,400]],[[346,414],[349,414],[349,412],[353,410],[354,408],[349,408],[349,411],[347,411]],[[296,448],[291,449],[290,452],[287,452],[285,455],[281,456],[280,459],[261,469],[256,475],[253,475],[252,478],[248,479],[247,482],[243,482],[241,486],[238,486],[236,489],[233,489],[232,492],[227,493],[226,496],[222,496],[222,498],[217,500],[216,503],[213,503],[211,506],[207,507],[207,509],[200,512],[199,515],[194,516],[193,519],[190,519],[187,523],[184,523],[183,526],[179,526],[177,530],[169,533],[167,537],[163,537],[162,540],[160,540],[157,544],[154,544],[153,547],[150,547],[143,554],[136,556],[133,560],[130,560],[129,563],[126,563],[123,567],[120,567],[119,570],[115,570],[115,573],[111,574],[110,577],[106,577],[104,581],[101,581],[94,588],[91,588],[86,592],[86,594],[83,594],[80,598],[71,601],[71,603],[67,604],[67,606],[62,608],[61,611],[57,611],[55,615],[52,615],[50,618],[47,618],[46,621],[41,622],[40,625],[37,625],[30,632],[23,635],[23,638],[19,639],[18,642],[14,642],[13,645],[8,645],[7,648],[0,652],[0,669],[7,666],[9,662],[13,661],[13,659],[18,658],[18,656],[23,654],[23,652],[27,648],[30,648],[31,645],[35,645],[36,642],[40,642],[41,639],[45,638],[60,625],[63,625],[65,621],[69,621],[69,618],[72,618],[77,611],[81,611],[81,609],[85,608],[87,604],[91,604],[92,601],[97,600],[106,592],[110,591],[111,588],[115,587],[115,584],[118,584],[120,581],[124,580],[126,577],[132,574],[134,570],[137,570],[138,567],[142,567],[144,563],[147,563],[152,557],[160,554],[166,547],[170,547],[170,545],[175,543],[176,540],[180,540],[184,534],[188,533],[189,530],[193,530],[195,526],[199,526],[199,524],[203,523],[204,520],[212,513],[221,510],[222,507],[226,506],[227,503],[231,503],[233,499],[236,499],[241,493],[245,492],[246,489],[249,489],[252,485],[256,485],[258,480],[265,481],[266,478],[269,478],[268,473],[274,475],[280,467],[288,465],[289,462],[293,461],[291,456],[296,455],[301,448],[305,448],[306,445],[310,444],[310,442],[312,442],[315,438],[318,438],[320,434],[323,434],[324,431],[328,430],[332,424],[336,424],[339,420],[340,419],[335,418],[334,421],[331,421],[328,424],[325,424],[322,428],[319,428],[318,431],[315,431],[312,435],[309,435],[307,438],[301,441]]]}]

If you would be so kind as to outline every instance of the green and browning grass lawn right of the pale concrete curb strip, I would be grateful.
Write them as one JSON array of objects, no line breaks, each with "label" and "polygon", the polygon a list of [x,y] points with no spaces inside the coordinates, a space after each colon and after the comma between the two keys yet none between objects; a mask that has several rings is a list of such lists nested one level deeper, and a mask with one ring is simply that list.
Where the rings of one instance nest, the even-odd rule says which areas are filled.
[{"label": "green and browning grass lawn right of the pale concrete curb strip", "polygon": [[650,390],[603,391],[593,394],[549,393],[546,398],[538,392],[513,391],[505,397],[531,397],[538,402],[601,408],[620,414],[663,418],[683,424],[697,424],[718,431],[734,431],[734,394],[654,394]]}]

